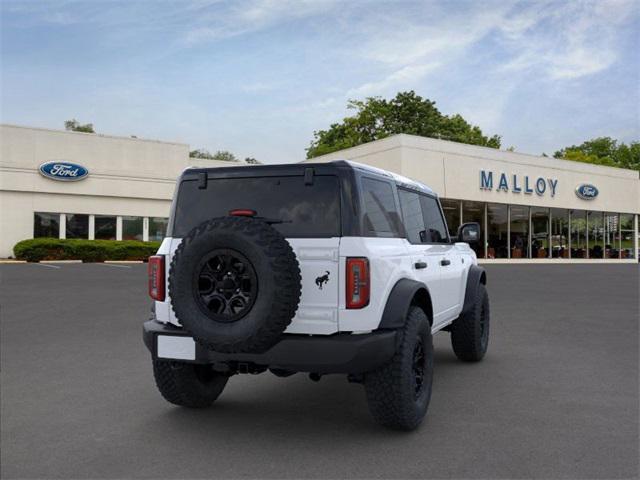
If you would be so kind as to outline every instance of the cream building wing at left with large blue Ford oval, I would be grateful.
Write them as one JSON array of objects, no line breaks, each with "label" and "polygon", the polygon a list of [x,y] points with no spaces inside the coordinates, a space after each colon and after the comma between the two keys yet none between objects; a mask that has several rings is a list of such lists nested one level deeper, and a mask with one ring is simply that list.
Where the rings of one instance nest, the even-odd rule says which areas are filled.
[{"label": "cream building wing at left with large blue Ford oval", "polygon": [[229,162],[180,143],[0,125],[0,258],[34,237],[161,240],[191,165]]}]

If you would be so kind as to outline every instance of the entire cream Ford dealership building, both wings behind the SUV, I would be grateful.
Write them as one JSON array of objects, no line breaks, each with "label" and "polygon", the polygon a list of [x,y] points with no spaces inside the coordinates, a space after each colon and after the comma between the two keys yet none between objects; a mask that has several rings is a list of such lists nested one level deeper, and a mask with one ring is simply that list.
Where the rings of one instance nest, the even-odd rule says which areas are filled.
[{"label": "entire cream Ford dealership building, both wings behind the SUV", "polygon": [[[163,237],[186,144],[0,125],[0,258],[33,237]],[[314,158],[429,185],[449,229],[478,222],[486,262],[637,262],[639,172],[394,135]]]}]

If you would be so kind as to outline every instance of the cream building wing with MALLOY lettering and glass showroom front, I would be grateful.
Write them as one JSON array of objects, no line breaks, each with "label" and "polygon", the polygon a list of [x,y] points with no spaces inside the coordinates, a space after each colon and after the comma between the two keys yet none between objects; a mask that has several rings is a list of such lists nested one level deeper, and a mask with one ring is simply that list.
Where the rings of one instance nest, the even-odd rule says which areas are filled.
[{"label": "cream building wing with MALLOY lettering and glass showroom front", "polygon": [[635,170],[539,157],[413,135],[316,157],[352,160],[430,186],[450,234],[478,222],[486,262],[637,262]]}]

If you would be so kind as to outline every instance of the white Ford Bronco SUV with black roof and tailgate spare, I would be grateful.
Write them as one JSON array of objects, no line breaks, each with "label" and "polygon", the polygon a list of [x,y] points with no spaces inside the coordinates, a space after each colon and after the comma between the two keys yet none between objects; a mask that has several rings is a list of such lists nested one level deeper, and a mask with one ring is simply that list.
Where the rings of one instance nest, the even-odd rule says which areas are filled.
[{"label": "white Ford Bronco SUV with black roof and tailgate spare", "polygon": [[[353,162],[190,168],[149,259],[144,341],[160,393],[207,407],[238,373],[342,373],[374,418],[427,411],[432,334],[458,358],[489,339],[486,275],[425,185]],[[463,243],[466,242],[466,243]]]}]

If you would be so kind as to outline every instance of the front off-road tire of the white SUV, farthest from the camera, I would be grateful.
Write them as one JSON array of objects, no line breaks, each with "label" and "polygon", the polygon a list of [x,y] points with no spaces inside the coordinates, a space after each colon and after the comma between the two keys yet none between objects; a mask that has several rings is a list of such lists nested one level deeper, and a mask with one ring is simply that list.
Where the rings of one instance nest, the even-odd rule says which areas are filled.
[{"label": "front off-road tire of the white SUV, farthest from the camera", "polygon": [[489,347],[489,295],[478,285],[473,307],[451,324],[451,346],[460,360],[479,362]]}]

